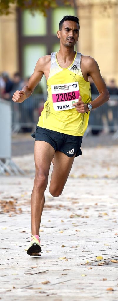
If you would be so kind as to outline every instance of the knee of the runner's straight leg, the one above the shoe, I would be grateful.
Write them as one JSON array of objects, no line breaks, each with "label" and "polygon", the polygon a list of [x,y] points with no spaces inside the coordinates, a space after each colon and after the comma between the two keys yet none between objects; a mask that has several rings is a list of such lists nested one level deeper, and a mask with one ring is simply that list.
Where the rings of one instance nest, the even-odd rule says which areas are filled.
[{"label": "knee of the runner's straight leg, the one above the shoe", "polygon": [[48,178],[45,175],[45,173],[42,172],[36,172],[35,180],[34,180],[34,187],[37,189],[43,188],[46,189],[48,184]]}]

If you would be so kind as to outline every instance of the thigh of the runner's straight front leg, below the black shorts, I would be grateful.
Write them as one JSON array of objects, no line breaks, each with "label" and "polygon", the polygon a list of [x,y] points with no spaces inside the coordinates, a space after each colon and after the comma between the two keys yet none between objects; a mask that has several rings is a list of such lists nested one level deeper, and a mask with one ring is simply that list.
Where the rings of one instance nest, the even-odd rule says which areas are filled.
[{"label": "thigh of the runner's straight front leg, below the black shorts", "polygon": [[34,160],[36,172],[43,172],[45,175],[48,175],[54,153],[54,148],[48,142],[35,141]]}]

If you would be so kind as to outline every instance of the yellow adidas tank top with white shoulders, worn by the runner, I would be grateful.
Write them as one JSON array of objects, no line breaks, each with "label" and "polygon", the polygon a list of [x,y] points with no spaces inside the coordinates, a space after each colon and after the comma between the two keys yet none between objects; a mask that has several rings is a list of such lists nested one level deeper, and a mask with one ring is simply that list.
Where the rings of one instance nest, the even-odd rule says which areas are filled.
[{"label": "yellow adidas tank top with white shoulders, worn by the runner", "polygon": [[83,136],[89,113],[78,113],[72,104],[79,95],[87,104],[91,101],[90,82],[83,78],[81,53],[76,52],[73,63],[68,68],[61,68],[57,62],[57,53],[51,54],[51,68],[47,80],[48,98],[44,104],[38,126],[68,135]]}]

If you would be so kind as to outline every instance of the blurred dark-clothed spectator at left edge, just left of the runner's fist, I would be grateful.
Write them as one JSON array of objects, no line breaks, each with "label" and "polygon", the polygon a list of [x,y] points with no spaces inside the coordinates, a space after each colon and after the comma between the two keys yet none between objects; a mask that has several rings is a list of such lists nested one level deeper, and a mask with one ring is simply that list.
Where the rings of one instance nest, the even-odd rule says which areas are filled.
[{"label": "blurred dark-clothed spectator at left edge, just left of the runner's fist", "polygon": [[4,88],[4,91],[2,93],[2,97],[9,100],[10,99],[9,92],[13,88],[13,81],[9,78],[9,75],[8,75],[7,72],[2,73],[2,79],[5,82],[5,88]]}]

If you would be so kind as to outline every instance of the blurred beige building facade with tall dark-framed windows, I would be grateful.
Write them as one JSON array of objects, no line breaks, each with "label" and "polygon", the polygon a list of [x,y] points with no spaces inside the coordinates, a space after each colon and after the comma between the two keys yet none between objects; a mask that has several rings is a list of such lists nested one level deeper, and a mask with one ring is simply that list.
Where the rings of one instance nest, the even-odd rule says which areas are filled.
[{"label": "blurred beige building facade with tall dark-framed windows", "polygon": [[[76,0],[75,8],[60,6],[48,11],[47,18],[11,6],[12,13],[0,17],[0,72],[12,76],[20,71],[21,76],[29,77],[39,57],[59,50],[59,21],[71,14],[80,20],[76,50],[94,57],[106,82],[114,78],[118,85],[118,3],[113,1],[105,9],[103,2]],[[45,88],[45,79],[42,85]]]}]

